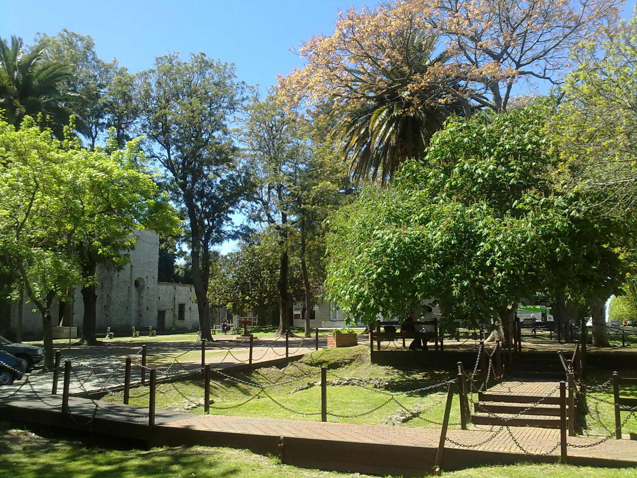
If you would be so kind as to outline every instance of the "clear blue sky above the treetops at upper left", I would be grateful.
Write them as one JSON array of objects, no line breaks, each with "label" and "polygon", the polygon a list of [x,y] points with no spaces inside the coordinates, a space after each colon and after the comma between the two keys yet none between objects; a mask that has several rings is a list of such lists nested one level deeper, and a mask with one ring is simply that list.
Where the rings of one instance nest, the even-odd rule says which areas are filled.
[{"label": "clear blue sky above the treetops at upper left", "polygon": [[[31,43],[63,28],[93,37],[99,57],[131,71],[150,68],[169,51],[233,62],[240,80],[266,89],[302,66],[290,48],[330,34],[339,10],[378,1],[352,0],[0,0],[0,37]],[[633,11],[628,2],[623,17]],[[237,219],[240,219],[239,215]],[[233,244],[225,243],[222,253]]]}]

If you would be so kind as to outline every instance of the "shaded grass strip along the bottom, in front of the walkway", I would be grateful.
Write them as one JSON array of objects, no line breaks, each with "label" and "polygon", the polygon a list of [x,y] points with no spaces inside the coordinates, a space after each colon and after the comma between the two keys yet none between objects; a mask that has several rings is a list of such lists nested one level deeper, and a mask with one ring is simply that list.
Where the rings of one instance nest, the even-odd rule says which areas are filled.
[{"label": "shaded grass strip along the bottom, in front of the walkway", "polygon": [[[448,478],[634,478],[629,468],[514,465],[443,472]],[[106,449],[78,437],[0,423],[0,476],[16,478],[346,478],[350,473],[282,465],[275,458],[220,447]],[[361,478],[369,475],[361,474]],[[397,478],[397,477],[391,477]]]}]

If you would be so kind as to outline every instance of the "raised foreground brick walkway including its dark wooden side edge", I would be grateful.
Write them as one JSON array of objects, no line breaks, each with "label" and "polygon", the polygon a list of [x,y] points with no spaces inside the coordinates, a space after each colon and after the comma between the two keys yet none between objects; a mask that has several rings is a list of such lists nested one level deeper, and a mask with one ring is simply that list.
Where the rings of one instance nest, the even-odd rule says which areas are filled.
[{"label": "raised foreground brick walkway including its dark wooden side edge", "polygon": [[[518,387],[506,383],[501,386],[506,389]],[[148,409],[145,407],[71,397],[70,414],[65,416],[61,410],[61,397],[48,395],[41,398],[43,400],[22,396],[6,400],[6,417],[137,438],[145,440],[149,446],[201,444],[245,448],[279,456],[283,463],[291,465],[344,472],[428,474],[433,468],[440,439],[440,430],[433,428],[199,415],[161,409],[157,410],[155,425],[148,426]],[[559,430],[475,426],[471,430],[449,430],[447,437],[443,468],[448,470],[519,461],[559,461]],[[596,441],[599,438],[569,437],[568,443],[578,446],[569,447],[569,463],[637,467],[637,441],[612,439],[581,447]]]}]

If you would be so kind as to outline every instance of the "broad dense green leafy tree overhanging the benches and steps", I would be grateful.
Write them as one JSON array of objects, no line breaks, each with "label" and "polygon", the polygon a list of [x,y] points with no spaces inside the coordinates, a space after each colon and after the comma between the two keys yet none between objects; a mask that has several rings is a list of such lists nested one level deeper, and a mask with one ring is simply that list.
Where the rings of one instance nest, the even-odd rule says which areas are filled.
[{"label": "broad dense green leafy tree overhanging the benches and steps", "polygon": [[568,286],[590,300],[617,287],[627,228],[590,217],[585,197],[552,180],[546,114],[452,118],[393,190],[338,212],[326,284],[343,310],[371,322],[436,298],[466,323],[494,317],[508,338],[521,298]]}]

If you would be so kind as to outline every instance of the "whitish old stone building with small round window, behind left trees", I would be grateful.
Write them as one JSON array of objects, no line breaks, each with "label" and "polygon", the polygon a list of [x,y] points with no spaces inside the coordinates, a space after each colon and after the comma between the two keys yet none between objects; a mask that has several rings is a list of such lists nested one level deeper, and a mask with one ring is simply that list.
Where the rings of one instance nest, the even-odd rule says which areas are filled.
[{"label": "whitish old stone building with small round window, behind left trees", "polygon": [[[197,330],[199,313],[193,301],[194,287],[190,284],[157,281],[159,236],[152,231],[135,231],[138,238],[129,254],[131,263],[116,270],[113,266],[97,267],[97,330],[110,327],[112,331],[129,333],[136,330]],[[84,313],[82,292],[75,290],[72,314],[59,319],[56,305],[52,312],[54,326],[78,326],[82,330]],[[25,300],[22,333],[25,337],[41,337],[42,319]],[[72,318],[71,318],[72,315]],[[70,318],[70,320],[69,320]],[[17,324],[17,307],[11,308],[11,329]]]}]

